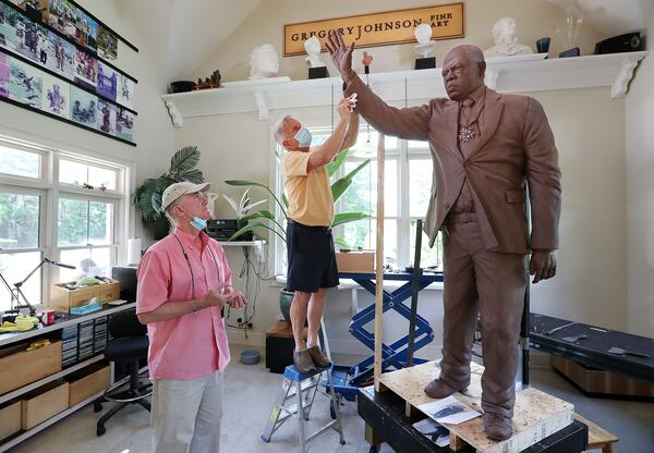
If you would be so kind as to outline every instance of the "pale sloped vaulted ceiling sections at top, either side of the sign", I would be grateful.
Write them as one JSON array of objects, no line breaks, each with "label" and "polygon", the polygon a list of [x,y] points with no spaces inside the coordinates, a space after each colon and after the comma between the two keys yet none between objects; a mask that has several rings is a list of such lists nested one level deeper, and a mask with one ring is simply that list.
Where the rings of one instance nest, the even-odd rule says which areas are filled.
[{"label": "pale sloped vaulted ceiling sections at top, either side of the sign", "polygon": [[[116,0],[125,16],[138,19],[144,44],[168,81],[190,77],[222,40],[246,27],[262,1]],[[643,29],[653,10],[652,0],[546,1],[581,14],[584,24],[606,37]]]}]

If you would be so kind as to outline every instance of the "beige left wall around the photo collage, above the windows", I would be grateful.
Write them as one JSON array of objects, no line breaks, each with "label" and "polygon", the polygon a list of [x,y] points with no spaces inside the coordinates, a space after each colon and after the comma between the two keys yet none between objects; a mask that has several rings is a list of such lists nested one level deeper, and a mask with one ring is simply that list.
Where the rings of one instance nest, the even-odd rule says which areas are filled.
[{"label": "beige left wall around the photo collage, above the windows", "polygon": [[[173,128],[160,99],[161,93],[166,93],[166,81],[161,79],[152,52],[144,47],[134,17],[124,16],[114,0],[82,0],[80,4],[140,48],[136,53],[121,44],[116,62],[119,69],[138,81],[134,109],[138,112],[134,130],[138,146],[125,145],[5,102],[0,102],[0,133],[134,164],[133,181],[136,182],[160,174],[174,151]],[[130,235],[143,236],[138,218],[134,217],[132,223]]]}]

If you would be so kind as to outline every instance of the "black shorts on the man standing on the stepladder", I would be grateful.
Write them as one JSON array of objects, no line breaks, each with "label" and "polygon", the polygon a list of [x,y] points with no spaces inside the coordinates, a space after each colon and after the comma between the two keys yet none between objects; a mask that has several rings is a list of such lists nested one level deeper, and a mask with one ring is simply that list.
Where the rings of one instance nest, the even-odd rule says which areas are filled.
[{"label": "black shorts on the man standing on the stepladder", "polygon": [[287,290],[315,293],[338,286],[336,253],[329,226],[307,226],[289,219]]}]

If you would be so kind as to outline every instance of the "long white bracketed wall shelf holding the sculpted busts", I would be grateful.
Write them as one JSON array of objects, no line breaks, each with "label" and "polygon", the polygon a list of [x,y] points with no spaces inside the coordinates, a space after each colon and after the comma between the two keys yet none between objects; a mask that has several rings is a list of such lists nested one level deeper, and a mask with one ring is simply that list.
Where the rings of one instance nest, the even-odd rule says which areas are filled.
[{"label": "long white bracketed wall shelf holding the sculpted busts", "polygon": [[[627,94],[633,70],[647,51],[545,59],[545,53],[487,60],[486,85],[500,93],[529,93],[569,88],[610,87],[611,97]],[[374,70],[374,68],[373,68]],[[402,101],[445,97],[440,68],[373,73],[371,87],[384,100]],[[362,78],[365,75],[360,75]],[[365,78],[364,78],[365,79]],[[185,118],[329,106],[339,96],[339,77],[291,81],[274,77],[225,83],[222,88],[162,95],[172,123],[182,127]],[[415,103],[415,102],[414,102]]]}]

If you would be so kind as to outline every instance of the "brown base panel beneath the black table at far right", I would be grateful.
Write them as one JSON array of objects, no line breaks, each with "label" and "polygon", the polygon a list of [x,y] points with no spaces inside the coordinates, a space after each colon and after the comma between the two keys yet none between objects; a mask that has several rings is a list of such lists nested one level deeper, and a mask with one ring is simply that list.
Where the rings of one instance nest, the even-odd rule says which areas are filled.
[{"label": "brown base panel beneath the black table at far right", "polygon": [[654,385],[602,369],[588,368],[582,364],[553,354],[554,369],[574,382],[588,393],[622,396],[654,397]]}]

